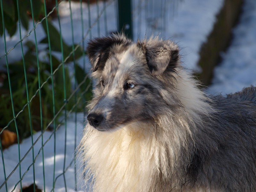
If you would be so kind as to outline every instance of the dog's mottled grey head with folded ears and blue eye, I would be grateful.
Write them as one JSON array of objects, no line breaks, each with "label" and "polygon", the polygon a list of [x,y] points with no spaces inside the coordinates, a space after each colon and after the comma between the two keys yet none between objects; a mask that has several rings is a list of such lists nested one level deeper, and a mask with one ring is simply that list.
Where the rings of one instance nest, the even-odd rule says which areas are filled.
[{"label": "dog's mottled grey head with folded ears and blue eye", "polygon": [[93,39],[87,53],[96,80],[87,119],[97,130],[152,120],[167,105],[165,86],[172,83],[166,77],[179,65],[179,48],[171,41],[133,43],[114,35]]}]

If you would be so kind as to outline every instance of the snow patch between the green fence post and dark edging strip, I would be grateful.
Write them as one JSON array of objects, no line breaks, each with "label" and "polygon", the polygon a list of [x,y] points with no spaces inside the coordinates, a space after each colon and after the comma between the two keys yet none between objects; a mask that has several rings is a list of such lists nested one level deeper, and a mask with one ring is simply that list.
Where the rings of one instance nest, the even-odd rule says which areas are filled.
[{"label": "snow patch between the green fence post and dark edging strip", "polygon": [[[215,15],[219,12],[223,0],[167,1],[164,8],[157,1],[152,1],[152,3],[155,3],[153,4],[155,12],[147,14],[146,10],[141,11],[141,17],[146,17],[144,22],[140,22],[140,16],[136,17],[135,23],[141,23],[141,26],[134,29],[134,39],[137,39],[138,34],[141,33],[142,37],[144,37],[144,33],[146,36],[151,36],[154,33],[164,39],[171,38],[182,48],[180,53],[183,65],[200,71],[197,66],[198,53],[201,45],[207,40],[208,34],[212,31]],[[176,8],[174,13],[173,6]],[[165,9],[167,10],[165,11]],[[159,14],[159,12],[164,13]],[[153,22],[154,20],[164,20],[165,22]],[[154,23],[154,26],[151,23]],[[139,29],[140,31],[138,31]]]}]

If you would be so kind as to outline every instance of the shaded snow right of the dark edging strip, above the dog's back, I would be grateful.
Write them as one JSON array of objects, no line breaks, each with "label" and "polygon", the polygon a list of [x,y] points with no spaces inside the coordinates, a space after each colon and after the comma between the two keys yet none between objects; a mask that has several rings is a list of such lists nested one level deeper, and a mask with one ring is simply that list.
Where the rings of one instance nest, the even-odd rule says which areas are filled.
[{"label": "shaded snow right of the dark edging strip, above the dog's back", "polygon": [[206,91],[223,95],[256,85],[256,1],[245,0],[239,24],[222,62],[214,69],[212,85]]}]

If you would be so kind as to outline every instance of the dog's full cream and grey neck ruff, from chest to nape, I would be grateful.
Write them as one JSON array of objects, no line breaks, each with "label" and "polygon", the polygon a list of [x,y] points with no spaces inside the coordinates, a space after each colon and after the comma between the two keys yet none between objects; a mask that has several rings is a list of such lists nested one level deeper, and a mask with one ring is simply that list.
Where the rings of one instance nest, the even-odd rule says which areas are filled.
[{"label": "dog's full cream and grey neck ruff, from chest to nape", "polygon": [[[187,81],[180,83],[181,78]],[[178,99],[186,109],[173,113],[166,108],[166,114],[157,117],[157,126],[156,122],[133,122],[112,132],[100,132],[87,124],[81,149],[87,163],[86,175],[93,174],[93,191],[181,190],[186,166],[193,155],[193,122],[201,122],[199,114],[207,116],[212,109],[185,72],[180,72],[176,79],[177,90],[173,91],[179,92]],[[162,90],[161,94],[171,103],[168,92]],[[200,186],[192,188],[199,191]],[[182,191],[186,191],[185,186]]]}]

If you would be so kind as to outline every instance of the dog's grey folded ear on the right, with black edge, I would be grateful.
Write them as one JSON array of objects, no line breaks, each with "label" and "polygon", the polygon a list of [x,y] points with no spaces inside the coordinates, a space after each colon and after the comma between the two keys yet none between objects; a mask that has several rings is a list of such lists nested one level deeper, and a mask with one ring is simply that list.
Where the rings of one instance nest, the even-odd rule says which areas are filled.
[{"label": "dog's grey folded ear on the right, with black edge", "polygon": [[148,68],[153,75],[161,75],[167,68],[172,70],[179,64],[179,47],[173,42],[156,37],[144,41],[142,45]]}]

